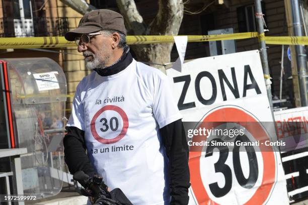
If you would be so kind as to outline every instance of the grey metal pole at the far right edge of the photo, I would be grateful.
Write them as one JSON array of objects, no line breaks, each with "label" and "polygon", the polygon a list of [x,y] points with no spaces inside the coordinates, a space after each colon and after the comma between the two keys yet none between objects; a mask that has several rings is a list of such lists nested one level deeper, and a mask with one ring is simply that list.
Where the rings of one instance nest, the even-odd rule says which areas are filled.
[{"label": "grey metal pole at the far right edge of the photo", "polygon": [[[293,17],[294,36],[303,36],[302,28],[301,28],[301,21],[300,21],[300,14],[299,14],[298,0],[291,0],[291,8],[292,8],[292,17]],[[307,64],[306,64],[306,54],[304,51],[304,47],[302,45],[296,45],[295,53],[296,53],[296,61],[297,61],[300,104],[301,104],[301,107],[305,107],[305,106],[308,106],[308,98],[307,98],[307,85],[306,85]]]}]

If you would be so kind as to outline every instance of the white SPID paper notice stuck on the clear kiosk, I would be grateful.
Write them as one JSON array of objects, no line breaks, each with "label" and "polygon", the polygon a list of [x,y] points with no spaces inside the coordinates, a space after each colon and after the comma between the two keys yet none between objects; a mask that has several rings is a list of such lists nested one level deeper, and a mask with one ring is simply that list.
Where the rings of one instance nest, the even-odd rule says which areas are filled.
[{"label": "white SPID paper notice stuck on the clear kiosk", "polygon": [[53,72],[33,74],[39,91],[59,89],[58,80]]}]

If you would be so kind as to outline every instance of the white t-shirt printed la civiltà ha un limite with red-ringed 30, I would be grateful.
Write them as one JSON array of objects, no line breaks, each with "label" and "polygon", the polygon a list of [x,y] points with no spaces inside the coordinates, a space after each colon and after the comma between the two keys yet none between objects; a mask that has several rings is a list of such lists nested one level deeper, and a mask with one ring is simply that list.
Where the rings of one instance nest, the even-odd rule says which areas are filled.
[{"label": "white t-shirt printed la civilt\u00e0 ha un limite with red-ringed 30", "polygon": [[135,60],[114,75],[92,72],[76,88],[66,126],[85,131],[97,173],[133,204],[170,200],[159,129],[182,118],[172,96],[164,73]]}]

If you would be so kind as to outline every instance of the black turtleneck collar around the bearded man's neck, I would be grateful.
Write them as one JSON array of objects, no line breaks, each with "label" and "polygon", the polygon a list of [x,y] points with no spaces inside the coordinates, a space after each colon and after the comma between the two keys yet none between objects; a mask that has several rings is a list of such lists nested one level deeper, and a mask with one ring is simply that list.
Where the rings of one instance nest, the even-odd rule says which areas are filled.
[{"label": "black turtleneck collar around the bearded man's neck", "polygon": [[114,75],[124,70],[131,62],[133,58],[129,52],[129,46],[125,46],[122,56],[114,64],[102,69],[95,68],[94,70],[101,76]]}]

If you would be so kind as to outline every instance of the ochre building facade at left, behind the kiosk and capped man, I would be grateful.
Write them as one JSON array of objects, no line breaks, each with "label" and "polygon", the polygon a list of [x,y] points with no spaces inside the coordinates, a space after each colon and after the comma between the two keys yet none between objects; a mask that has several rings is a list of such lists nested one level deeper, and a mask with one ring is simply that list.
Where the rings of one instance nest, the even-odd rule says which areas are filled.
[{"label": "ochre building facade at left, behind the kiosk and capped man", "polygon": [[[63,36],[76,28],[83,15],[59,0],[0,0],[1,37]],[[0,58],[48,57],[64,70],[67,80],[67,115],[76,85],[89,71],[84,57],[72,48],[49,48],[45,52],[32,49],[0,50]]]}]

